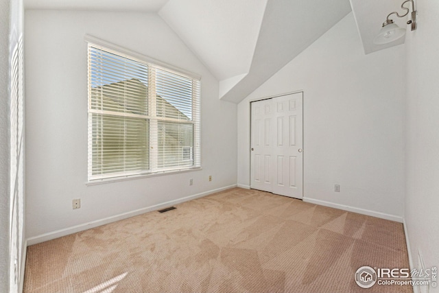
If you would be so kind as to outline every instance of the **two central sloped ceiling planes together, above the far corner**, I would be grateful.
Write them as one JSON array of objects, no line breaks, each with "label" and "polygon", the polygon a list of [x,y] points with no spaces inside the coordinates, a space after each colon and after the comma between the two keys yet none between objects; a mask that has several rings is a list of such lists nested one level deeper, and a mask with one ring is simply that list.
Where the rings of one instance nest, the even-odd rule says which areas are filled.
[{"label": "two central sloped ceiling planes together, above the far corner", "polygon": [[348,12],[348,0],[169,0],[158,12],[240,102]]}]

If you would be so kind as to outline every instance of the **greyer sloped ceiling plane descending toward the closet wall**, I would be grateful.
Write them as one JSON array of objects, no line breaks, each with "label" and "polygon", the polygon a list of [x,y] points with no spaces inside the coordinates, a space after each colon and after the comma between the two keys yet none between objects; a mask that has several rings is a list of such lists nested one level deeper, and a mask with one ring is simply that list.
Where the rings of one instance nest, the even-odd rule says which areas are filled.
[{"label": "greyer sloped ceiling plane descending toward the closet wall", "polygon": [[240,102],[350,11],[346,0],[268,1],[250,71],[220,98]]}]

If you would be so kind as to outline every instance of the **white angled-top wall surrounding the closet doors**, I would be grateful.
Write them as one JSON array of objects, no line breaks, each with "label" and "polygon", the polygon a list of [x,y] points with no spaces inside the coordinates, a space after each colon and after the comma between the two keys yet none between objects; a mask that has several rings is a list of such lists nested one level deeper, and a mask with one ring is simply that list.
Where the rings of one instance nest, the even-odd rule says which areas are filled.
[{"label": "white angled-top wall surrounding the closet doors", "polygon": [[348,14],[238,105],[238,184],[250,185],[249,101],[302,90],[305,200],[401,221],[403,53],[365,55]]}]

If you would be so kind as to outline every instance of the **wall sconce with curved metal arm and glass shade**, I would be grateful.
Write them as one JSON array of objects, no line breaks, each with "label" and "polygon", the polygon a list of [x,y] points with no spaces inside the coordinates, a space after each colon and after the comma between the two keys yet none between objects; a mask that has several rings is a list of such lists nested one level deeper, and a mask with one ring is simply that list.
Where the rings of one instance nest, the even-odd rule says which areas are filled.
[{"label": "wall sconce with curved metal arm and glass shade", "polygon": [[410,9],[404,7],[404,4],[407,2],[412,3],[412,19],[410,21],[407,21],[407,25],[412,25],[412,31],[416,30],[416,14],[418,12],[416,12],[416,9],[414,8],[414,0],[406,0],[401,4],[401,8],[403,10],[406,10],[405,14],[399,15],[398,12],[396,12],[396,11],[390,13],[387,16],[386,21],[384,21],[383,27],[381,27],[381,30],[379,31],[378,36],[376,36],[374,38],[373,43],[375,43],[377,45],[387,44],[387,43],[393,42],[394,40],[401,38],[401,36],[404,36],[405,28],[402,28],[402,27],[399,27],[398,25],[396,25],[392,21],[392,19],[389,19],[389,17],[392,14],[396,14],[396,16],[398,16],[398,17],[404,17],[407,14],[409,14]]}]

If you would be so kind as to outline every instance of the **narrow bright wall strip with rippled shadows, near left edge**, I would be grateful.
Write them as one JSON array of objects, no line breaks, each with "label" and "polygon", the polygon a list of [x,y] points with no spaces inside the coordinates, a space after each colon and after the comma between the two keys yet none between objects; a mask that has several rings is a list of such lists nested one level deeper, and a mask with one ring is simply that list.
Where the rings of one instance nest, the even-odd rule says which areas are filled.
[{"label": "narrow bright wall strip with rippled shadows, near left edge", "polygon": [[10,292],[19,292],[23,288],[26,255],[23,0],[11,1],[10,5],[10,200],[12,214]]}]

